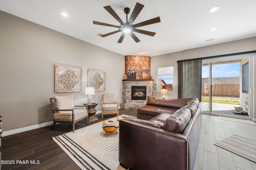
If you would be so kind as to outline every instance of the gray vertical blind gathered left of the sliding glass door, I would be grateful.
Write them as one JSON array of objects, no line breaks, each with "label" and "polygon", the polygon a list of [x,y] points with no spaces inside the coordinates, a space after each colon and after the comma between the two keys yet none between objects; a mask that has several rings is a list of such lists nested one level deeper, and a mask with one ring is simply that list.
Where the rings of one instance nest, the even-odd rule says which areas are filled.
[{"label": "gray vertical blind gathered left of the sliding glass door", "polygon": [[178,98],[202,99],[202,59],[178,61]]}]

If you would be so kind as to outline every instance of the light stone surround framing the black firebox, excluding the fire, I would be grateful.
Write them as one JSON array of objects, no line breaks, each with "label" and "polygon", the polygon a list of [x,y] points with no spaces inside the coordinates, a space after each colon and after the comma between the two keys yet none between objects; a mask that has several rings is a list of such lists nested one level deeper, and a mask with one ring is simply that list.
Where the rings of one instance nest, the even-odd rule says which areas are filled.
[{"label": "light stone surround framing the black firebox, excluding the fire", "polygon": [[152,80],[123,80],[123,103],[121,109],[138,109],[146,105],[147,100],[132,100],[132,86],[146,86],[146,95],[153,96]]}]

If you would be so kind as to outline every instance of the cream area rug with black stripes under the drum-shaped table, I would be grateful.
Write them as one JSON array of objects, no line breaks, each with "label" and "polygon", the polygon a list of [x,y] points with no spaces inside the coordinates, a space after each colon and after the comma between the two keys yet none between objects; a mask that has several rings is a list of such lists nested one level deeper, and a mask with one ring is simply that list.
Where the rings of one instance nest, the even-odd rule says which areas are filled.
[{"label": "cream area rug with black stripes under the drum-shaped table", "polygon": [[53,137],[53,140],[82,170],[124,170],[118,161],[119,135],[112,132],[105,136],[102,122]]}]

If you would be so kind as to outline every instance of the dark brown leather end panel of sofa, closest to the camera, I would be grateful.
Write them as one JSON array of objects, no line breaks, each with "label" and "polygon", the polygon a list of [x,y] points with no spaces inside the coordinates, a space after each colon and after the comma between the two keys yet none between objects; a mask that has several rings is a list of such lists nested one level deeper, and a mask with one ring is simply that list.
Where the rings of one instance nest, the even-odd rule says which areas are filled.
[{"label": "dark brown leather end panel of sofa, closest to the camera", "polygon": [[188,168],[188,140],[183,134],[128,119],[119,123],[120,164],[130,169]]}]

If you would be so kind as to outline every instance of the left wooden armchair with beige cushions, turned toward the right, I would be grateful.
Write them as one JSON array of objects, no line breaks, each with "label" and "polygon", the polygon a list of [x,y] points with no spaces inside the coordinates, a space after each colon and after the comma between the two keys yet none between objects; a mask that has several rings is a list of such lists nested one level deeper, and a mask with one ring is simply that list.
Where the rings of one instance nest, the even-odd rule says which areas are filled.
[{"label": "left wooden armchair with beige cushions, turned toward the right", "polygon": [[[53,103],[54,100],[54,103]],[[50,98],[53,114],[53,130],[56,128],[56,123],[72,123],[73,132],[75,131],[75,123],[87,118],[88,121],[88,106],[74,105],[73,95],[54,96]],[[75,109],[75,107],[86,107],[86,109]]]}]

